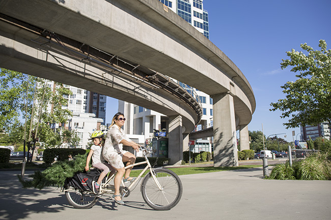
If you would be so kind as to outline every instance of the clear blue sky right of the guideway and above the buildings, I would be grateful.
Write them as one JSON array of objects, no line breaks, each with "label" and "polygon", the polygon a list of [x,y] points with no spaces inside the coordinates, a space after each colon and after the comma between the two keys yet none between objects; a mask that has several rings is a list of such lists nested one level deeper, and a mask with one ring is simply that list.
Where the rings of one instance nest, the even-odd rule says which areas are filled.
[{"label": "clear blue sky right of the guideway and above the buildings", "polygon": [[[250,82],[256,110],[249,124],[250,131],[262,131],[266,136],[279,135],[292,141],[292,131],[299,138],[300,129],[286,129],[287,119],[281,112],[271,112],[270,103],[283,99],[280,86],[295,81],[290,68],[281,70],[286,51],[301,50],[307,43],[319,50],[318,41],[331,45],[331,1],[329,0],[204,0],[209,16],[209,40],[222,50]],[[118,110],[118,101],[107,99],[106,122],[110,123]]]}]

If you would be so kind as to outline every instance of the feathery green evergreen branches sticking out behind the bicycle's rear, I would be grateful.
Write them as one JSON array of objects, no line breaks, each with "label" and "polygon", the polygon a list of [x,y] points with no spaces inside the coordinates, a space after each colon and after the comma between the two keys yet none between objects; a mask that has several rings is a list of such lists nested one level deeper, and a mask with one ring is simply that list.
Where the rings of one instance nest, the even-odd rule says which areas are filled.
[{"label": "feathery green evergreen branches sticking out behind the bicycle's rear", "polygon": [[30,175],[33,180],[22,180],[18,178],[24,188],[35,187],[40,190],[46,186],[63,186],[66,178],[72,177],[76,172],[84,171],[87,154],[77,155],[75,160],[60,161],[53,164],[44,171],[35,171]]}]

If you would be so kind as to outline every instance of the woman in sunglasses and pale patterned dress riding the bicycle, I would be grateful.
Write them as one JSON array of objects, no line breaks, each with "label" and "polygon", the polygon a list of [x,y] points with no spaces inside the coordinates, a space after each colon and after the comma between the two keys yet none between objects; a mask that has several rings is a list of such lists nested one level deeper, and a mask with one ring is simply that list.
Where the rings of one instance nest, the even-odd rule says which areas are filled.
[{"label": "woman in sunglasses and pale patterned dress riding the bicycle", "polygon": [[123,150],[123,145],[132,146],[136,151],[138,151],[141,146],[131,141],[125,135],[124,130],[122,129],[124,122],[125,117],[123,113],[118,112],[114,115],[102,150],[104,159],[118,172],[114,178],[115,194],[113,195],[113,199],[120,205],[124,204],[120,195],[120,184],[123,175],[125,174],[124,182],[134,179],[130,177],[132,168],[125,170],[123,162],[127,162],[126,166],[134,164],[135,162],[135,156],[129,151]]}]

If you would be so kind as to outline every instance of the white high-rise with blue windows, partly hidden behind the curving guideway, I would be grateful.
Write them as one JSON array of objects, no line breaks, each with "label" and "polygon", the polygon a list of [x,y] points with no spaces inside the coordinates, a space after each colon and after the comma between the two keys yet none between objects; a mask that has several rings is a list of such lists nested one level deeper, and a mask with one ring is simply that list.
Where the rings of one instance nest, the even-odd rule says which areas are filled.
[{"label": "white high-rise with blue windows, partly hidden behind the curving guideway", "polygon": [[[177,13],[189,24],[194,26],[201,34],[209,39],[208,12],[203,9],[202,0],[159,0],[169,9]],[[177,82],[185,88],[195,99],[200,99],[203,116],[197,127],[206,128],[212,125],[213,109],[212,99],[206,93],[199,91],[182,82]],[[153,130],[162,130],[168,128],[169,118],[166,115],[156,111],[143,108],[119,100],[119,111],[126,117],[123,127],[125,133],[139,143],[149,142],[153,137]],[[190,149],[195,152],[212,151],[212,138],[197,140],[195,147]],[[187,149],[186,149],[187,148]],[[184,150],[188,150],[188,147]]]}]

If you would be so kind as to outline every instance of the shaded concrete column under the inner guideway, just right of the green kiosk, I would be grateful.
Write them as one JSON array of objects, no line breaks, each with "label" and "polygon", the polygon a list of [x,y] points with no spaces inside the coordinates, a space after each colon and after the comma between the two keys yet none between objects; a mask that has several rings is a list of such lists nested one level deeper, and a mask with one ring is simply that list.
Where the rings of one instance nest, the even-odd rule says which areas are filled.
[{"label": "shaded concrete column under the inner guideway, just right of the green kiosk", "polygon": [[183,134],[182,134],[182,117],[169,117],[169,142],[168,157],[170,165],[180,165],[183,160]]}]

